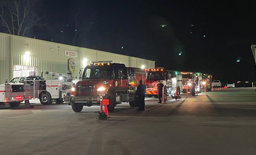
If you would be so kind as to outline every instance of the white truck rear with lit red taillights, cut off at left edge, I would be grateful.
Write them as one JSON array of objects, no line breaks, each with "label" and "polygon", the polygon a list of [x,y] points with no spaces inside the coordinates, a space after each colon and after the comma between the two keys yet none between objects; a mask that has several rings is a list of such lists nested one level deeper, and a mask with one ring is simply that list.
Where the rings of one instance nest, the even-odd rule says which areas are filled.
[{"label": "white truck rear with lit red taillights, cut off at left edge", "polygon": [[29,105],[30,85],[24,83],[5,83],[0,85],[0,107],[18,107],[22,101]]}]

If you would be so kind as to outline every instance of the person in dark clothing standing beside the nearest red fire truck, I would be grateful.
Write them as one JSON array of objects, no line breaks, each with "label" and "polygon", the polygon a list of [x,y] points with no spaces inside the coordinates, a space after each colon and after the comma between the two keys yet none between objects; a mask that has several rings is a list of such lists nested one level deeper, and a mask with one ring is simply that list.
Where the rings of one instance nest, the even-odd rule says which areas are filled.
[{"label": "person in dark clothing standing beside the nearest red fire truck", "polygon": [[139,80],[139,86],[137,88],[137,91],[135,93],[137,97],[137,103],[139,104],[139,111],[144,111],[145,110],[145,89],[146,86],[142,84],[142,80]]}]

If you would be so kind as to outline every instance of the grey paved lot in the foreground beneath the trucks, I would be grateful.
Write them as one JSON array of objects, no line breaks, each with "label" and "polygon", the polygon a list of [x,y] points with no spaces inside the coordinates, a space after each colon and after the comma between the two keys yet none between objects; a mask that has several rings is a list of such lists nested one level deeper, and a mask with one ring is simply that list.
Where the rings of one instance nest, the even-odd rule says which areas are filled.
[{"label": "grey paved lot in the foreground beneath the trucks", "polygon": [[0,109],[0,154],[255,154],[255,88],[181,96],[146,98],[145,111],[118,104],[107,121],[99,106]]}]

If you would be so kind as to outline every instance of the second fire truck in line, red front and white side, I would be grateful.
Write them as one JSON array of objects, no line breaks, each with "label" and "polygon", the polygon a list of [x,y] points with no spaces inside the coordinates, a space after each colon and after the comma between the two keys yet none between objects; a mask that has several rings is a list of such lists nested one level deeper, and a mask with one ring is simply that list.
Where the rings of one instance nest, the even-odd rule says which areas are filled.
[{"label": "second fire truck in line, red front and white side", "polygon": [[180,93],[180,86],[182,85],[182,76],[179,71],[168,71],[164,68],[149,68],[145,69],[147,76],[147,97],[154,96],[158,98],[157,84],[158,80],[164,85],[164,96],[165,101],[167,100],[167,95],[171,95],[172,98],[175,96],[176,87],[177,93]]}]

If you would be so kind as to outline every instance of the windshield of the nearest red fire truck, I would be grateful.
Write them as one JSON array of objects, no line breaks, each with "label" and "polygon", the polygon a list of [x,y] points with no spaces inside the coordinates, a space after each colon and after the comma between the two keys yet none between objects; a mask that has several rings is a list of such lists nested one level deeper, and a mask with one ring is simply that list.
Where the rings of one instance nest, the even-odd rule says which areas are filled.
[{"label": "windshield of the nearest red fire truck", "polygon": [[85,68],[82,79],[88,78],[104,78],[111,79],[112,69],[103,66],[88,66]]}]

